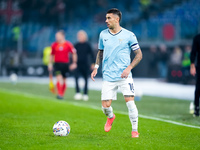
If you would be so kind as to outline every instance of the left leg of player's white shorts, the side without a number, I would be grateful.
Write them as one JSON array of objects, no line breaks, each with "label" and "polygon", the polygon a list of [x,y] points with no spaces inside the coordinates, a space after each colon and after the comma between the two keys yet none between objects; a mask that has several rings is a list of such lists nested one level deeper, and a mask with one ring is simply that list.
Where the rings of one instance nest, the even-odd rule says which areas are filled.
[{"label": "left leg of player's white shorts, the side without a number", "polygon": [[117,100],[117,83],[103,81],[101,100]]}]

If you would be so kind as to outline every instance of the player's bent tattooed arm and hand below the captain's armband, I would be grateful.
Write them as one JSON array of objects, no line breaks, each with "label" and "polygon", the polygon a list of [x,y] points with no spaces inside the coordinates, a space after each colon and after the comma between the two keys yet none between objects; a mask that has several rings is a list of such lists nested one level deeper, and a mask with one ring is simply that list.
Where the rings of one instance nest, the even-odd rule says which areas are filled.
[{"label": "player's bent tattooed arm and hand below the captain's armband", "polygon": [[122,72],[121,74],[121,78],[127,78],[129,73],[131,72],[131,70],[133,68],[135,68],[135,66],[137,66],[139,64],[139,62],[142,60],[142,51],[141,49],[137,49],[134,51],[135,53],[135,57],[133,59],[133,61],[131,62],[131,64]]}]

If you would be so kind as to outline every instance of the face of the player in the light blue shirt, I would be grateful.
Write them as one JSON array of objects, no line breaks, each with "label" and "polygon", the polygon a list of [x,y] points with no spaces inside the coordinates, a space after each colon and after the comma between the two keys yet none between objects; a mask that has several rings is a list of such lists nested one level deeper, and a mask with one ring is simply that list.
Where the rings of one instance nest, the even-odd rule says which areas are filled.
[{"label": "face of the player in the light blue shirt", "polygon": [[106,14],[106,24],[109,29],[114,29],[116,24],[119,23],[119,17],[115,14]]}]

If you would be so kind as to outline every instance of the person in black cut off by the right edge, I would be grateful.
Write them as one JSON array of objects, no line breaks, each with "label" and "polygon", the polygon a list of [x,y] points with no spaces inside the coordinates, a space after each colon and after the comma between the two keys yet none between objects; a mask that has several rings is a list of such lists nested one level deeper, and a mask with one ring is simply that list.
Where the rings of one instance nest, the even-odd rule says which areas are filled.
[{"label": "person in black cut off by the right edge", "polygon": [[[197,59],[197,60],[196,60]],[[196,66],[195,66],[196,60]],[[190,73],[196,75],[196,88],[194,98],[194,116],[199,117],[199,97],[200,97],[200,34],[196,35],[193,39],[192,51],[190,54]]]}]

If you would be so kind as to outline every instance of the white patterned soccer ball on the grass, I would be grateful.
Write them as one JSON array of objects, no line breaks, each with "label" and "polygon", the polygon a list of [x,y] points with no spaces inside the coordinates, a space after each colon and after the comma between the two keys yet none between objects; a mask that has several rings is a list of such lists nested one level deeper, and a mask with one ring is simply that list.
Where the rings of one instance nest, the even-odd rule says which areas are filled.
[{"label": "white patterned soccer ball on the grass", "polygon": [[70,126],[66,121],[58,121],[53,126],[53,133],[56,136],[67,136],[70,133]]}]

